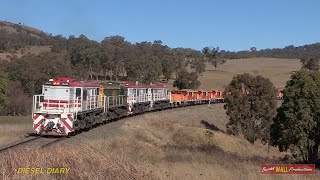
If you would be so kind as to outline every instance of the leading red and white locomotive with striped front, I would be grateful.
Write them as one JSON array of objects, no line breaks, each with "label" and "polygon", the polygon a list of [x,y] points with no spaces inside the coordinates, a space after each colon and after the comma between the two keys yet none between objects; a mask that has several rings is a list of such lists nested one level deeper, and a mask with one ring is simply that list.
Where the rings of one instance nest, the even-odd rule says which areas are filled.
[{"label": "leading red and white locomotive with striped front", "polygon": [[71,135],[83,125],[77,117],[92,117],[105,111],[99,103],[99,84],[72,78],[50,79],[42,94],[33,97],[33,129],[37,134]]}]

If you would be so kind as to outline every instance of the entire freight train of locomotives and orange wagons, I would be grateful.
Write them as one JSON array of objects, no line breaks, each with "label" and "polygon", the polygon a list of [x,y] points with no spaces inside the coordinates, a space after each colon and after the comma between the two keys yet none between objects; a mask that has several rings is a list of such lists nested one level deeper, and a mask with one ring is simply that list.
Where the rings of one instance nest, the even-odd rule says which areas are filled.
[{"label": "entire freight train of locomotives and orange wagons", "polygon": [[172,90],[164,85],[50,79],[33,97],[38,135],[72,136],[126,116],[174,107],[223,102],[223,91]]}]

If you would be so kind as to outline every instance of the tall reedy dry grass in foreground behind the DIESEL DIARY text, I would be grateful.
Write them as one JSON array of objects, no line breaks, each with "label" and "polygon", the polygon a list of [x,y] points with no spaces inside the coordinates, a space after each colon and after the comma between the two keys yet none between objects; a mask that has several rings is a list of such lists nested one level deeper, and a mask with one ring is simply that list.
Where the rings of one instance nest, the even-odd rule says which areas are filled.
[{"label": "tall reedy dry grass in foreground behind the DIESEL DIARY text", "polygon": [[[9,152],[1,163],[0,179],[155,179],[118,154],[91,146],[57,147]],[[18,174],[18,168],[43,168],[44,174]],[[47,168],[70,168],[67,174],[47,174]]]}]

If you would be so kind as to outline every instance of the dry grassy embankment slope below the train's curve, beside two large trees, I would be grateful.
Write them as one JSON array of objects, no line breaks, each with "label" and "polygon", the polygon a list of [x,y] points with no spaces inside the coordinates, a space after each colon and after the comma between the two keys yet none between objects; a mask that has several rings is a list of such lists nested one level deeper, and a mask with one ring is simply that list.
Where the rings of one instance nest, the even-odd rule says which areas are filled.
[{"label": "dry grassy embankment slope below the train's curve, beside two large trees", "polygon": [[225,134],[223,113],[222,104],[215,104],[145,114],[124,123],[123,136],[111,143],[110,151],[125,154],[126,160],[161,179],[319,177],[261,176],[260,163],[281,163],[278,157],[284,153],[270,147],[268,154],[268,147],[260,142],[253,145]]}]

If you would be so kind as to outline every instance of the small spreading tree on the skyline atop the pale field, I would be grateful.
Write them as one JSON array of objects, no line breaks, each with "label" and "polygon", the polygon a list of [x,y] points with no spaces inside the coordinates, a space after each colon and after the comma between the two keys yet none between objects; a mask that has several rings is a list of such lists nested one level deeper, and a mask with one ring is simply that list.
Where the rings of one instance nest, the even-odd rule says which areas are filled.
[{"label": "small spreading tree on the skyline atop the pale field", "polygon": [[227,62],[223,54],[220,52],[219,47],[217,48],[205,47],[203,48],[202,53],[206,56],[208,61],[211,62],[214,68],[217,68],[218,65],[222,65]]}]

